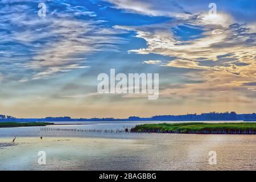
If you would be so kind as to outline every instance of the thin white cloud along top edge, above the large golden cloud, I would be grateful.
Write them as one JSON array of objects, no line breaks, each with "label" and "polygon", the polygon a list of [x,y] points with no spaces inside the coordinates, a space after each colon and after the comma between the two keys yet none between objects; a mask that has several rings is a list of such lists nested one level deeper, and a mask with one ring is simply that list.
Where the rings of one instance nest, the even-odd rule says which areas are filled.
[{"label": "thin white cloud along top edge, above the large golden cloud", "polygon": [[[170,18],[188,19],[195,14],[206,14],[210,10],[210,1],[197,0],[105,0],[113,4],[115,9],[122,9],[129,13],[143,14],[149,16],[167,16]],[[236,0],[234,2],[215,0],[217,13],[226,12],[238,22],[255,22],[255,1]],[[243,6],[241,6],[243,5]],[[213,20],[213,19],[212,19]],[[223,22],[220,17],[216,21]]]}]

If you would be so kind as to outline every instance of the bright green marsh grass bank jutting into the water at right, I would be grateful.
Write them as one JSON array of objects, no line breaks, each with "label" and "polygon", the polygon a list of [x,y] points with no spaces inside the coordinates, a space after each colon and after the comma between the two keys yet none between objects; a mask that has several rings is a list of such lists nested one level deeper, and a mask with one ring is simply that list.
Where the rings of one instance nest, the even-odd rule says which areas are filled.
[{"label": "bright green marsh grass bank jutting into the water at right", "polygon": [[256,123],[159,123],[138,125],[134,133],[256,134]]}]

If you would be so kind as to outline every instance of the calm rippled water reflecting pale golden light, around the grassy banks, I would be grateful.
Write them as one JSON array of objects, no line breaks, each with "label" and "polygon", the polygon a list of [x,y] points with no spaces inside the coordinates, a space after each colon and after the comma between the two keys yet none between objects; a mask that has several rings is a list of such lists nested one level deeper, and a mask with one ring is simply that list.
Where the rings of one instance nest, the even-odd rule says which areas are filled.
[{"label": "calm rippled water reflecting pale golden light, around the grassy banks", "polygon": [[[46,127],[124,129],[145,122],[84,123]],[[40,128],[0,129],[0,170],[256,170],[256,135],[106,134]],[[46,151],[45,166],[38,164],[38,151]],[[210,151],[217,152],[217,165],[209,165]]]}]

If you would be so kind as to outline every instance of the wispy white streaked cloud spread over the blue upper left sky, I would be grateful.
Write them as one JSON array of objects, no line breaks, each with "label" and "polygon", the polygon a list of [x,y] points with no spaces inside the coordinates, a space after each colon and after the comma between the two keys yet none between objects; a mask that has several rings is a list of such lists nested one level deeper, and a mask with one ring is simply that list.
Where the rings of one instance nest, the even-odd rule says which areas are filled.
[{"label": "wispy white streaked cloud spread over the blue upper left sky", "polygon": [[[57,4],[49,2],[44,18],[37,15],[34,4],[9,3],[1,1],[0,7],[0,64],[8,63],[7,70],[27,69],[23,80],[86,68],[88,55],[117,51],[126,41],[118,36],[124,31],[104,26],[102,20],[83,19],[82,16],[96,16],[84,6],[64,4],[63,10],[56,11],[53,7]],[[0,69],[0,72],[8,71]]]}]

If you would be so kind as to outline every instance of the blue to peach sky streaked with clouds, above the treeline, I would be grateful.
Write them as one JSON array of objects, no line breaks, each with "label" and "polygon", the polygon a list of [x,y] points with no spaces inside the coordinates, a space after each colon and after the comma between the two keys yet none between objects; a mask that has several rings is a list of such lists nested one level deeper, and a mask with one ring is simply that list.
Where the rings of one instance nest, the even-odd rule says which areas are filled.
[{"label": "blue to peach sky streaked with clouds, above the treeline", "polygon": [[[0,0],[0,17],[1,114],[255,112],[254,0]],[[159,73],[159,98],[99,94],[110,69]]]}]

